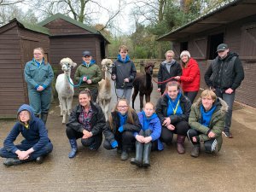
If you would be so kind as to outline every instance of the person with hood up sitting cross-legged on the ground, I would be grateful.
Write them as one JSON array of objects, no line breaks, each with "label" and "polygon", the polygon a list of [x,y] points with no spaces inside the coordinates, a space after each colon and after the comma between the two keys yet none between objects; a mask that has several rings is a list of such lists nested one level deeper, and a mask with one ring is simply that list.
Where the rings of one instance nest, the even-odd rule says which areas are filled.
[{"label": "person with hood up sitting cross-legged on the ground", "polygon": [[[53,148],[44,122],[37,118],[32,107],[26,104],[19,108],[17,119],[18,122],[3,142],[3,148],[0,148],[0,156],[7,158],[3,165],[14,166],[31,160],[43,163],[44,156]],[[14,142],[20,133],[25,139],[15,145]]]}]

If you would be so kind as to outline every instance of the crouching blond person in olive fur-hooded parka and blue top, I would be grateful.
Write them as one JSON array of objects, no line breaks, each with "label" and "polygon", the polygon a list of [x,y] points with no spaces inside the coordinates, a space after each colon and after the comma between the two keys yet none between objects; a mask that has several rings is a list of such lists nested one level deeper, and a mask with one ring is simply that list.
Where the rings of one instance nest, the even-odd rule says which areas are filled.
[{"label": "crouching blond person in olive fur-hooded parka and blue top", "polygon": [[190,142],[194,145],[191,156],[198,157],[203,142],[207,153],[217,154],[222,145],[225,113],[228,106],[222,99],[217,98],[212,90],[204,90],[201,98],[192,105],[189,115],[188,131]]}]

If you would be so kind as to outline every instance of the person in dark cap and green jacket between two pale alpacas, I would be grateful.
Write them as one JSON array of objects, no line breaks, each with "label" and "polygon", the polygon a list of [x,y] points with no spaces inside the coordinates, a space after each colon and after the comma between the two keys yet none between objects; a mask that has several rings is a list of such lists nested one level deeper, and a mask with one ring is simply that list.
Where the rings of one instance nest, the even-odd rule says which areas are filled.
[{"label": "person in dark cap and green jacket between two pale alpacas", "polygon": [[92,60],[90,51],[83,52],[82,64],[77,68],[74,75],[76,81],[82,79],[82,84],[79,86],[79,91],[88,88],[90,90],[93,102],[96,102],[98,96],[98,82],[102,80],[102,72],[96,61]]}]

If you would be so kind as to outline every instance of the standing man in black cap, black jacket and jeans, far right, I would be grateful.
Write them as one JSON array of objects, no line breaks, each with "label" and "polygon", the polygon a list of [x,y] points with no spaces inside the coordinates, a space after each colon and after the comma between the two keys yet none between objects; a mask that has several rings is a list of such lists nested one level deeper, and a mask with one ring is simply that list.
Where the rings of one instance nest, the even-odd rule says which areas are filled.
[{"label": "standing man in black cap, black jacket and jeans, far right", "polygon": [[236,53],[230,52],[227,44],[219,44],[218,56],[212,60],[205,73],[205,81],[216,95],[222,98],[229,106],[226,113],[224,136],[232,138],[230,125],[232,118],[233,102],[236,89],[244,79],[243,67]]}]

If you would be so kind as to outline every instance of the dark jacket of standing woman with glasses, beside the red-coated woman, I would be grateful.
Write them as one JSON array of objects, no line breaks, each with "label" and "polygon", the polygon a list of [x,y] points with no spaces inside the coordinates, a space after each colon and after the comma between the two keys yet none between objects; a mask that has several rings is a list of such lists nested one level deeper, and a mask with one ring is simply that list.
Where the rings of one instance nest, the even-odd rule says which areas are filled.
[{"label": "dark jacket of standing woman with glasses, beside the red-coated woman", "polygon": [[[160,64],[160,69],[158,71],[158,81],[162,82],[165,81],[167,79],[170,79],[172,77],[176,77],[176,76],[181,76],[183,73],[182,67],[180,66],[179,63],[177,63],[177,61],[175,61],[171,68],[170,68],[170,73],[168,72],[167,68],[166,68],[166,63],[162,62]],[[175,79],[173,79],[175,80]],[[166,89],[166,83],[165,84],[158,84],[158,88],[161,89],[161,93],[163,93]]]}]

